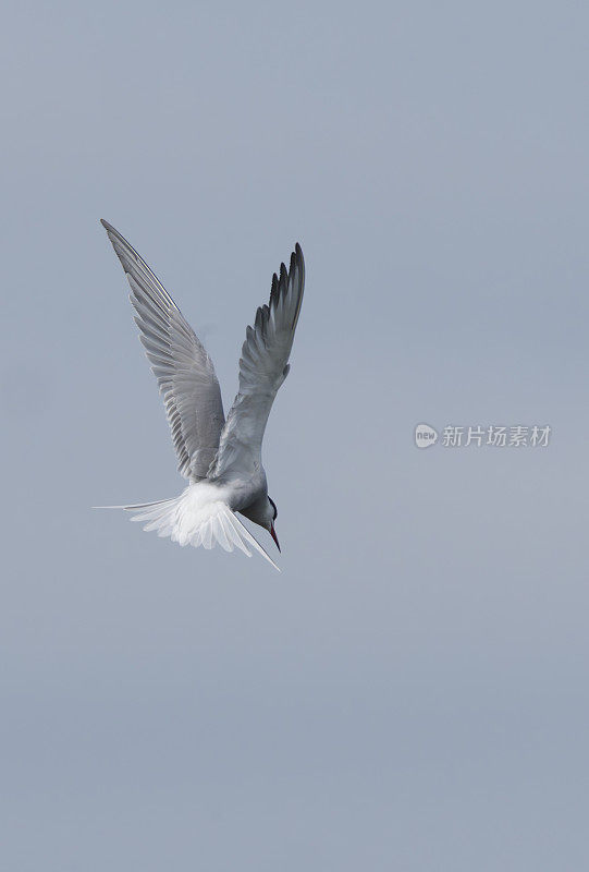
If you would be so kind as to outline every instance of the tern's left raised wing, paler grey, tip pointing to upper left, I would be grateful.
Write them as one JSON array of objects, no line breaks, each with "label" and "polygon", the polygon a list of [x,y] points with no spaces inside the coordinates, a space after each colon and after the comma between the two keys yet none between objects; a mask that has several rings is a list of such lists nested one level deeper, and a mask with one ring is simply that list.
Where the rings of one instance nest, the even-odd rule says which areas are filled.
[{"label": "tern's left raised wing, paler grey, tip pointing to upper left", "polygon": [[207,475],[224,424],[212,361],[145,261],[111,225],[101,223],[131,286],[135,323],[163,398],[179,472],[197,482]]}]

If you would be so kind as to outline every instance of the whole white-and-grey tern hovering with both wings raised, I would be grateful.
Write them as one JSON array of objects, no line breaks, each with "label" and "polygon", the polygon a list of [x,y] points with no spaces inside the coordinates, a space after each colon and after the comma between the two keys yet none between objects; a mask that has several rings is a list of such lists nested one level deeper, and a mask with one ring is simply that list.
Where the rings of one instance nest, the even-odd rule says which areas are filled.
[{"label": "whole white-and-grey tern hovering with both wings raised", "polygon": [[[139,339],[151,364],[179,457],[188,481],[180,496],[155,502],[101,508],[125,509],[144,530],[179,545],[269,554],[237,512],[274,530],[278,510],[268,496],[261,443],[277,392],[289,375],[289,356],[305,287],[305,262],[297,243],[290,269],[274,272],[268,305],[246,329],[240,358],[240,388],[225,421],[212,361],[168,291],[135,249],[108,221],[101,221],[131,286]],[[280,571],[280,570],[279,570]]]}]

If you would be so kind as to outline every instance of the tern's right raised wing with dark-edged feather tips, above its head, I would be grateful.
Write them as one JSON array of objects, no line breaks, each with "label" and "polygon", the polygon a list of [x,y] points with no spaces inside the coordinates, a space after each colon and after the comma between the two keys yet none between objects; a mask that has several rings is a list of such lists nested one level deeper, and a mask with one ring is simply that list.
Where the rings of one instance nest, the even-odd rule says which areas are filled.
[{"label": "tern's right raised wing with dark-edged feather tips, above its head", "polygon": [[268,305],[256,313],[254,327],[246,330],[240,359],[240,390],[221,438],[209,477],[251,474],[261,465],[261,440],[278,389],[289,374],[289,355],[303,303],[305,262],[298,243],[274,274]]}]

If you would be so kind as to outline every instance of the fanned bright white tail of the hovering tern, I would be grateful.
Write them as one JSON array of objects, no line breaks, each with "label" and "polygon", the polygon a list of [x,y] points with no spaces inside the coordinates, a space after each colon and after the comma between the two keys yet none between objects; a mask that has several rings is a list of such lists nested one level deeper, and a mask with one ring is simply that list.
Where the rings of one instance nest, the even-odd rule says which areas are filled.
[{"label": "fanned bright white tail of the hovering tern", "polygon": [[187,487],[180,496],[159,499],[155,502],[137,502],[130,506],[96,506],[97,509],[124,509],[134,513],[132,521],[146,521],[144,530],[154,530],[158,536],[170,536],[179,545],[212,548],[219,544],[226,552],[240,548],[248,557],[253,546],[274,569],[279,567],[249,530],[240,521],[226,502],[210,500],[198,485]]}]

